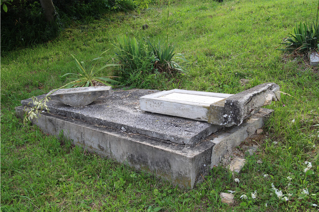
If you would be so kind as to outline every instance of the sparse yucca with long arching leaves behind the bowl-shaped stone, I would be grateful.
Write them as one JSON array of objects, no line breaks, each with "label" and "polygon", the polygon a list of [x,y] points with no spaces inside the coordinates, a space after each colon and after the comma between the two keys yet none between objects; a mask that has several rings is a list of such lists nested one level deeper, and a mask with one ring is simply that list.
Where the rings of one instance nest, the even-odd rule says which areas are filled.
[{"label": "sparse yucca with long arching leaves behind the bowl-shaped stone", "polygon": [[[108,50],[106,50],[108,51]],[[95,66],[98,62],[98,60],[100,60],[101,57],[106,51],[104,51],[98,58],[94,58],[92,61],[89,62],[88,66],[85,67],[85,63],[83,61],[81,61],[81,63],[79,63],[79,61],[71,54],[71,56],[74,58],[75,64],[79,69],[78,73],[66,73],[64,74],[62,77],[67,76],[67,75],[75,75],[75,77],[70,78],[71,80],[73,80],[72,82],[68,83],[66,85],[66,88],[70,88],[70,87],[89,87],[89,86],[95,86],[99,83],[103,84],[103,85],[109,85],[112,86],[110,83],[118,83],[118,81],[114,80],[114,79],[110,79],[111,77],[99,77],[96,76],[96,74],[98,72],[100,72],[101,70],[105,69],[106,67],[110,67],[110,66],[117,66],[118,64],[106,64],[103,65],[102,67],[95,69]]]}]

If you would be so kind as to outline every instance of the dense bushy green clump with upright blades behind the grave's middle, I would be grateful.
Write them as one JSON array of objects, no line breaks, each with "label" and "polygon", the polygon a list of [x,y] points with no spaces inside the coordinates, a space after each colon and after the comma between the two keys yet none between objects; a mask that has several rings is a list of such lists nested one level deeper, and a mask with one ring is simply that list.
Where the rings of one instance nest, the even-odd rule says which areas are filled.
[{"label": "dense bushy green clump with upright blades behind the grave's middle", "polygon": [[[121,63],[118,75],[125,85],[149,88],[156,83],[156,78],[167,78],[184,70],[173,61],[177,54],[171,44],[153,45],[147,39],[119,36],[115,46],[115,59]],[[185,58],[181,58],[185,60]],[[154,81],[155,80],[155,81]]]}]

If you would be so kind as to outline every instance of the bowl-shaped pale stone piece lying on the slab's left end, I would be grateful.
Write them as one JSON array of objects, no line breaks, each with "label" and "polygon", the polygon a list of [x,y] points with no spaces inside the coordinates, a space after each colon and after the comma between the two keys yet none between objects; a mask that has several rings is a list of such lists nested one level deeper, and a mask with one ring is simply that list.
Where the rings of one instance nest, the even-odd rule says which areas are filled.
[{"label": "bowl-shaped pale stone piece lying on the slab's left end", "polygon": [[[107,96],[111,93],[111,86],[96,86],[96,87],[78,87],[59,89],[49,95],[51,99],[58,100],[65,105],[72,107],[83,107],[92,103],[100,96]],[[48,93],[48,94],[49,94]]]}]

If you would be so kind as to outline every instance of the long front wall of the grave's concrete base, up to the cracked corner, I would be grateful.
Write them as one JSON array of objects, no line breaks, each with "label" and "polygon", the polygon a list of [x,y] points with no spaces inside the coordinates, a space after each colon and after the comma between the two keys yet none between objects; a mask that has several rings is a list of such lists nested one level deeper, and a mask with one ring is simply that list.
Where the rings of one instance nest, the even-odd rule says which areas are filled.
[{"label": "long front wall of the grave's concrete base, up to the cracked corner", "polygon": [[[23,117],[24,110],[24,106],[16,107],[17,116]],[[49,113],[42,113],[33,124],[52,135],[58,136],[63,132],[63,136],[72,140],[74,145],[160,176],[181,188],[194,188],[195,183],[202,180],[202,175],[208,173],[214,146],[203,141],[188,148]]]}]

